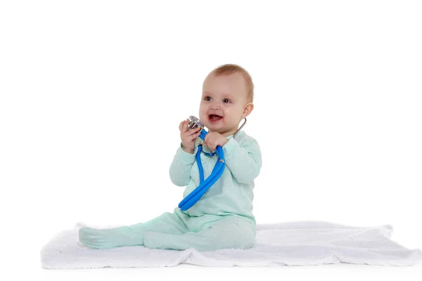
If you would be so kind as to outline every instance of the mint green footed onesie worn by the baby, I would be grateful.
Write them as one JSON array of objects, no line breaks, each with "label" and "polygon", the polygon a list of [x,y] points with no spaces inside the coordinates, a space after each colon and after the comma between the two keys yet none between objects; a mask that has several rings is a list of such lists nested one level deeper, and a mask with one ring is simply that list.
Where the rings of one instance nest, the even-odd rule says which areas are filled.
[{"label": "mint green footed onesie worn by the baby", "polygon": [[[219,180],[190,209],[166,212],[132,226],[79,229],[79,241],[88,247],[144,246],[151,249],[249,249],[255,243],[256,222],[252,214],[254,179],[262,166],[260,147],[254,138],[240,131],[236,138],[227,137],[223,146],[226,169]],[[170,165],[170,178],[175,185],[186,186],[186,197],[200,184],[196,152],[202,140],[197,139],[193,154],[181,149]],[[203,152],[211,153],[203,145]],[[210,176],[218,155],[201,153],[204,179]],[[175,202],[177,204],[178,202]]]}]

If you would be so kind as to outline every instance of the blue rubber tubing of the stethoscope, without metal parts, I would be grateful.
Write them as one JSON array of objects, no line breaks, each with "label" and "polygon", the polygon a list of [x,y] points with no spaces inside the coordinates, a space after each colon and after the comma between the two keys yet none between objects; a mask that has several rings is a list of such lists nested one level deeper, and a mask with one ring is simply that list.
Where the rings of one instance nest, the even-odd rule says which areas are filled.
[{"label": "blue rubber tubing of the stethoscope, without metal parts", "polygon": [[[207,131],[202,129],[199,137],[205,141],[205,136],[207,133]],[[205,192],[210,189],[210,187],[219,179],[220,176],[222,176],[224,169],[226,168],[223,149],[221,146],[217,145],[217,148],[215,149],[218,155],[217,163],[215,164],[214,169],[212,169],[210,176],[208,176],[208,178],[204,181],[204,171],[200,161],[201,150],[202,145],[198,145],[198,152],[196,152],[196,162],[198,163],[200,184],[198,185],[198,188],[195,188],[195,190],[189,193],[188,196],[184,197],[184,200],[181,200],[179,203],[179,208],[181,211],[190,209],[196,202],[198,202],[200,198],[203,197]]]}]

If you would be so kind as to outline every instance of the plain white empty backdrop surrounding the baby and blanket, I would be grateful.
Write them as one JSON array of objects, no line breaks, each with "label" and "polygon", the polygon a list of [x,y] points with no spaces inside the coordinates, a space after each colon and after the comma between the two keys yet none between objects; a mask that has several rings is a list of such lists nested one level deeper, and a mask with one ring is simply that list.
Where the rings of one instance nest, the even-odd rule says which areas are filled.
[{"label": "plain white empty backdrop surrounding the baby and blanket", "polygon": [[177,207],[178,126],[224,63],[255,83],[257,223],[391,224],[421,249],[421,14],[420,1],[2,1],[0,275],[417,279],[422,264],[45,270],[39,252],[78,221]]}]

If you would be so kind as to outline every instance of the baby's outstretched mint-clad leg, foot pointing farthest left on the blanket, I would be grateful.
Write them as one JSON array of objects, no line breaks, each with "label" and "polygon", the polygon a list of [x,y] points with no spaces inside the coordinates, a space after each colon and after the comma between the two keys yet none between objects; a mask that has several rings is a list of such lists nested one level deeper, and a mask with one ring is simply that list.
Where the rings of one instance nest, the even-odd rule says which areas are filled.
[{"label": "baby's outstretched mint-clad leg, foot pointing farthest left on the blanket", "polygon": [[150,221],[132,226],[105,229],[80,228],[79,241],[88,247],[96,249],[143,246],[143,233],[146,230],[173,234],[182,234],[188,231],[179,216],[166,212]]}]

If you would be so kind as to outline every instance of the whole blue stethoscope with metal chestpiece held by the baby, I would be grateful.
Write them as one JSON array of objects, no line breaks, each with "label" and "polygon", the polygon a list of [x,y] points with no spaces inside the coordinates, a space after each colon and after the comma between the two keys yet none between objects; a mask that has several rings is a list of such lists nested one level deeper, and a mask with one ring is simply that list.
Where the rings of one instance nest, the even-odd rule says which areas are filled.
[{"label": "whole blue stethoscope with metal chestpiece held by the baby", "polygon": [[[198,145],[198,151],[196,152],[196,163],[198,163],[198,169],[199,169],[199,178],[200,178],[200,184],[198,185],[198,188],[195,188],[195,190],[192,190],[191,193],[188,194],[188,196],[184,197],[184,200],[181,200],[179,203],[179,208],[181,211],[186,211],[187,209],[191,208],[196,202],[200,200],[201,197],[205,194],[205,192],[210,189],[210,187],[218,181],[219,177],[222,176],[224,169],[226,168],[226,162],[224,159],[224,152],[221,146],[217,145],[217,148],[215,149],[215,152],[213,153],[207,153],[205,151],[202,151],[202,145],[205,141],[205,136],[207,135],[207,131],[204,129],[204,124],[200,122],[200,120],[194,116],[189,116],[189,119],[191,119],[191,122],[188,124],[188,130],[195,129],[201,127],[200,129],[200,135],[199,137],[202,138],[202,143]],[[242,127],[246,124],[246,117],[243,117],[245,119],[245,122],[243,122],[242,126],[237,129],[236,133],[234,133],[233,138],[236,137],[239,131],[241,131]],[[208,156],[213,156],[217,153],[218,159],[217,163],[215,163],[214,169],[212,169],[212,172],[210,176],[207,177],[207,179],[204,181],[204,171],[203,166],[200,161],[200,152],[205,153]]]}]

